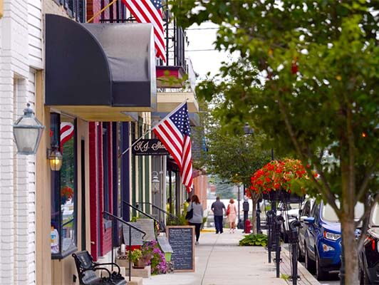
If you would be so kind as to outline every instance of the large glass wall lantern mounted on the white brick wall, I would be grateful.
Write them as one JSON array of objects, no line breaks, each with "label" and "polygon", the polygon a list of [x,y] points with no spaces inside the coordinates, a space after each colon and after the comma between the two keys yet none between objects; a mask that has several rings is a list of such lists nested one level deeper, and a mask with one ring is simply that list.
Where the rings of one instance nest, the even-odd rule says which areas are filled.
[{"label": "large glass wall lantern mounted on the white brick wall", "polygon": [[19,155],[35,155],[42,137],[44,125],[34,116],[30,104],[26,104],[24,115],[14,122],[13,134]]}]

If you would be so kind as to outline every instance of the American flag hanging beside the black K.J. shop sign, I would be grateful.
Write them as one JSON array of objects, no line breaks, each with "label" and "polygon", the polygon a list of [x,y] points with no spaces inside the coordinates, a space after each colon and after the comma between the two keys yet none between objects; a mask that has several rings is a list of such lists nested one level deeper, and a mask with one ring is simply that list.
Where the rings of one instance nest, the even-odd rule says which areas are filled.
[{"label": "American flag hanging beside the black K.J. shop sign", "polygon": [[187,192],[191,192],[193,187],[192,152],[187,102],[180,104],[155,125],[152,131],[174,157],[179,166],[182,184],[187,187]]}]

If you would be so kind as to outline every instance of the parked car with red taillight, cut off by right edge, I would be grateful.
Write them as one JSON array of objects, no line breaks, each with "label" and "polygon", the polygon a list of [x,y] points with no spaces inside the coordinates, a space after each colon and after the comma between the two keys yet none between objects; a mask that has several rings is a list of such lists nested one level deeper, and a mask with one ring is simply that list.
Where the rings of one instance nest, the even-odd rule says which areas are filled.
[{"label": "parked car with red taillight, cut off by right edge", "polygon": [[368,227],[359,254],[360,284],[379,284],[379,203],[371,210]]}]

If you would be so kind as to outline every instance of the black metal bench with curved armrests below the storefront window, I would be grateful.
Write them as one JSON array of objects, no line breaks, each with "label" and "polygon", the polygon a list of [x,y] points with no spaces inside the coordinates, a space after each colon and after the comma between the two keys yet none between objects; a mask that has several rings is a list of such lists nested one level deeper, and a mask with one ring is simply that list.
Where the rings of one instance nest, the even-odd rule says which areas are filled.
[{"label": "black metal bench with curved armrests below the storefront window", "polygon": [[[126,285],[125,278],[120,274],[120,266],[115,263],[96,263],[93,258],[85,250],[73,254],[75,259],[76,269],[78,270],[79,281],[82,285]],[[112,265],[118,268],[118,272],[110,270],[104,265]],[[98,277],[95,274],[96,270],[103,270],[108,273],[108,276]]]}]

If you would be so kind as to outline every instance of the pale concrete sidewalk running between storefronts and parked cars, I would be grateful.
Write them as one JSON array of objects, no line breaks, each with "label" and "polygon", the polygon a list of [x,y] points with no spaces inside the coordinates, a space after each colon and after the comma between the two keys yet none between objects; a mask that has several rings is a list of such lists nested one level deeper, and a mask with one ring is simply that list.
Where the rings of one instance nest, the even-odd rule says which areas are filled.
[{"label": "pale concrete sidewalk running between storefronts and parked cars", "polygon": [[[289,284],[284,279],[276,279],[274,263],[267,262],[267,252],[263,247],[239,247],[242,231],[229,234],[202,232],[199,245],[195,247],[195,271],[185,273],[161,274],[144,279],[144,285],[251,285],[251,284]],[[281,274],[288,274],[281,264]],[[308,274],[311,276],[311,274]],[[301,284],[318,284],[313,276],[301,272]],[[314,279],[307,281],[308,279]],[[304,281],[307,281],[303,283]]]}]

